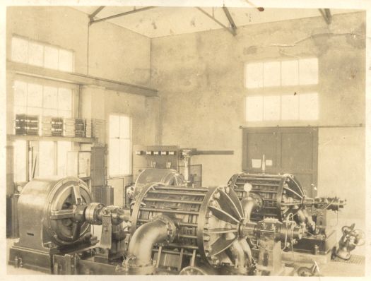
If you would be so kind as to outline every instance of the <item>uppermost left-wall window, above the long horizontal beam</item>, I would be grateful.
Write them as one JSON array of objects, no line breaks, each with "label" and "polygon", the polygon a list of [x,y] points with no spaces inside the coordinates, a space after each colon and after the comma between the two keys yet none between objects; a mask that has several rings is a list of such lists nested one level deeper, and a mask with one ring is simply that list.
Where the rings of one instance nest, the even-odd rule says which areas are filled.
[{"label": "uppermost left-wall window, above the long horizontal beam", "polygon": [[73,72],[73,51],[19,36],[13,36],[11,40],[11,59],[23,64]]}]

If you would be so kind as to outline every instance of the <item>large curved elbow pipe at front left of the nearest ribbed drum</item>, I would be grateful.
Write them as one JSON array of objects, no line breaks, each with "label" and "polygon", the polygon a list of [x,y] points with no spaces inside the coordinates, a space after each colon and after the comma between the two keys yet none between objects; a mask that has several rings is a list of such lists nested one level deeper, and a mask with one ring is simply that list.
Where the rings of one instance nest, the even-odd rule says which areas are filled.
[{"label": "large curved elbow pipe at front left of the nearest ribbed drum", "polygon": [[131,266],[143,267],[152,265],[152,249],[155,244],[170,243],[176,234],[176,227],[172,220],[160,215],[150,222],[141,225],[131,237],[128,256],[134,259]]}]

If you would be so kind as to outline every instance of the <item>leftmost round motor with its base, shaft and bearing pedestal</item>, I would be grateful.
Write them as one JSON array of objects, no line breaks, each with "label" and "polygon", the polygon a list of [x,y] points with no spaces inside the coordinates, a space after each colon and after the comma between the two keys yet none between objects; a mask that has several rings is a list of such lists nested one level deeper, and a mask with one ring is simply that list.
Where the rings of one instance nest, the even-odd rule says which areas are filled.
[{"label": "leftmost round motor with its base, shaft and bearing pedestal", "polygon": [[100,247],[110,249],[100,258],[122,256],[124,229],[112,225],[129,217],[119,208],[91,202],[88,187],[75,177],[28,182],[18,199],[20,239],[10,249],[9,263],[46,273],[58,271],[57,255],[87,251],[98,243],[90,225],[102,225]]}]

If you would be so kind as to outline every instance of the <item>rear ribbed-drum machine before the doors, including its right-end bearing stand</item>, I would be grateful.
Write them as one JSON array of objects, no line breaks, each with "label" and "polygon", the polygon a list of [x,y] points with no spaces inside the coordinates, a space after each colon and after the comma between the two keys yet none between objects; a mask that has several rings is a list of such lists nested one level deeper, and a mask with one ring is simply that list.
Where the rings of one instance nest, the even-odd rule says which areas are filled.
[{"label": "rear ribbed-drum machine before the doors, including its right-end bearing stand", "polygon": [[281,222],[290,219],[305,225],[305,235],[293,246],[295,251],[324,255],[336,246],[336,229],[329,223],[334,212],[329,210],[340,210],[346,201],[336,197],[308,198],[292,174],[234,174],[228,186],[240,200],[250,202],[249,219],[253,222],[276,217]]}]

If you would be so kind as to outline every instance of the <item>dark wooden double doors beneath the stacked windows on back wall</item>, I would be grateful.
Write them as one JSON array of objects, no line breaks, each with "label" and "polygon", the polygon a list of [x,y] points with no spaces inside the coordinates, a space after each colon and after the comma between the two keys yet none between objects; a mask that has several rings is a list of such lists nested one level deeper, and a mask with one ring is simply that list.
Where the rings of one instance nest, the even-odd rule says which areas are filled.
[{"label": "dark wooden double doors beneath the stacked windows on back wall", "polygon": [[318,161],[317,128],[244,128],[243,130],[243,172],[261,173],[265,168],[266,174],[294,174],[307,192],[307,196],[317,196],[315,189]]}]

